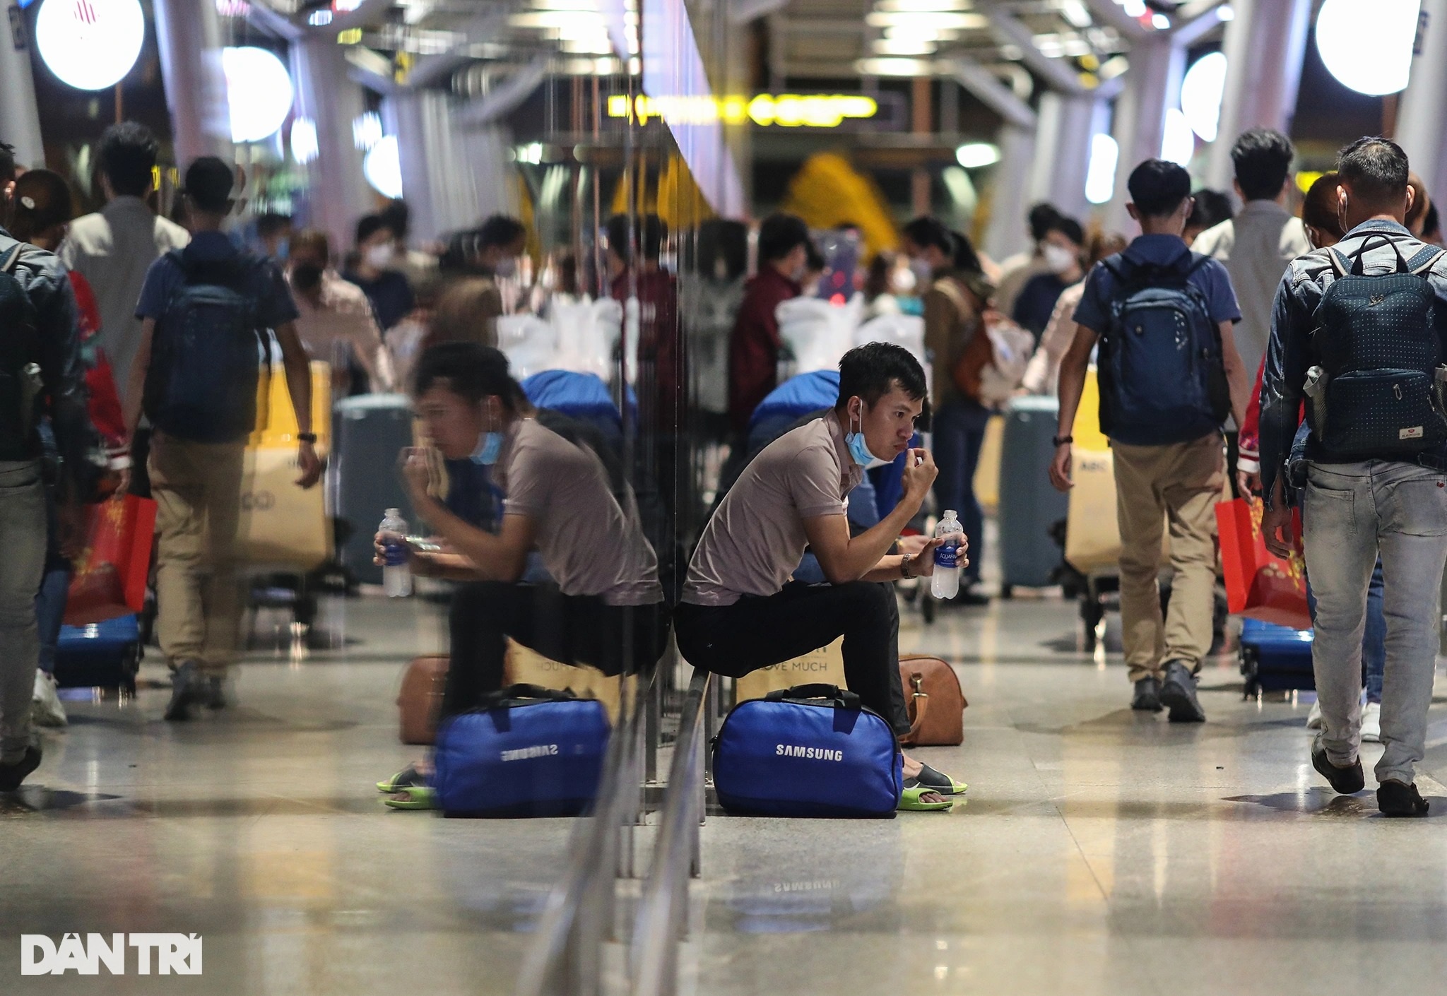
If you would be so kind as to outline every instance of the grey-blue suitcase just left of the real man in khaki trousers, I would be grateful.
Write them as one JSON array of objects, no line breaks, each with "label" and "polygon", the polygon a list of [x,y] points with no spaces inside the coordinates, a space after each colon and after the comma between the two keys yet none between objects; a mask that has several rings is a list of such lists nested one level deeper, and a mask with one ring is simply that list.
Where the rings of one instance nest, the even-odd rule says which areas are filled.
[{"label": "grey-blue suitcase just left of the real man in khaki trousers", "polygon": [[1069,512],[1069,495],[1051,486],[1059,401],[1013,398],[1004,413],[1000,463],[1000,582],[1011,589],[1056,583],[1065,552],[1052,534]]}]

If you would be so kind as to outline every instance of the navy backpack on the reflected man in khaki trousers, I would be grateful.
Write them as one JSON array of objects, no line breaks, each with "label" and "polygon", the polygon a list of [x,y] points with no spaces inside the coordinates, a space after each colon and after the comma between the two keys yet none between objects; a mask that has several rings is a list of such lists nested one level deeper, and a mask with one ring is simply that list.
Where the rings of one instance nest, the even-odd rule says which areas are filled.
[{"label": "navy backpack on the reflected man in khaki trousers", "polygon": [[256,388],[266,350],[249,285],[263,259],[240,253],[200,261],[168,258],[185,282],[156,321],[146,371],[145,411],[168,436],[236,443],[256,429]]}]

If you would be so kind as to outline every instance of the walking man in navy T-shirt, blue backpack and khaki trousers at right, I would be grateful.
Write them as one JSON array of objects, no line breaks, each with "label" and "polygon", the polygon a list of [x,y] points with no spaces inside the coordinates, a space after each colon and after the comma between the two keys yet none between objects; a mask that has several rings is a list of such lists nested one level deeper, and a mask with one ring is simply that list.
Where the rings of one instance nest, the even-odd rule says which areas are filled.
[{"label": "walking man in navy T-shirt, blue backpack and khaki trousers at right", "polygon": [[[1103,259],[1075,308],[1078,330],[1061,360],[1061,421],[1051,482],[1071,485],[1071,427],[1091,352],[1100,345],[1100,424],[1116,468],[1120,615],[1126,663],[1143,712],[1202,722],[1195,672],[1211,649],[1215,605],[1215,502],[1226,484],[1221,424],[1240,424],[1250,395],[1231,326],[1242,317],[1220,262],[1181,237],[1191,177],[1147,159],[1129,180],[1142,235]],[[1162,617],[1156,575],[1171,527],[1171,605]]]}]

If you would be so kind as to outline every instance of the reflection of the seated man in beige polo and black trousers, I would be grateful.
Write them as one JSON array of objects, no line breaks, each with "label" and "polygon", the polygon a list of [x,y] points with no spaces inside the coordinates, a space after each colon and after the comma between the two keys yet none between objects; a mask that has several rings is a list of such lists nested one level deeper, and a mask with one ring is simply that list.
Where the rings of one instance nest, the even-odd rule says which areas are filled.
[{"label": "reflection of the seated man in beige polo and black trousers", "polygon": [[[651,673],[669,618],[658,560],[631,492],[619,504],[599,456],[543,427],[508,375],[508,359],[491,346],[427,349],[417,363],[415,404],[443,457],[480,465],[491,475],[482,486],[504,498],[498,533],[470,526],[453,511],[453,495],[447,504],[434,497],[425,453],[407,453],[412,508],[443,546],[414,554],[414,570],[470,582],[453,596],[441,717],[478,708],[504,688],[508,638],[611,676]],[[378,557],[398,539],[379,533]],[[534,549],[550,581],[521,583]],[[378,788],[396,793],[388,801],[394,808],[425,809],[433,802],[427,780],[414,764]]]}]

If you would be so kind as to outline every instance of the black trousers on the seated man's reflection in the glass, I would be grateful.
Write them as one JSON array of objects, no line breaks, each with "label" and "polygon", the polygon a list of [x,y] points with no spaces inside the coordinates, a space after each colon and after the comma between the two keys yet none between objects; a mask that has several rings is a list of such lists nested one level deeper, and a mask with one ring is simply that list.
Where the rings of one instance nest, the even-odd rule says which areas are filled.
[{"label": "black trousers on the seated man's reflection in the glass", "polygon": [[508,637],[564,664],[651,675],[669,643],[669,612],[663,602],[608,605],[596,595],[564,595],[554,585],[464,585],[451,602],[443,717],[475,709],[502,688]]}]

